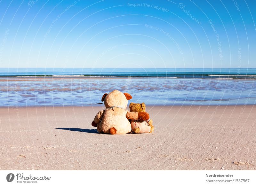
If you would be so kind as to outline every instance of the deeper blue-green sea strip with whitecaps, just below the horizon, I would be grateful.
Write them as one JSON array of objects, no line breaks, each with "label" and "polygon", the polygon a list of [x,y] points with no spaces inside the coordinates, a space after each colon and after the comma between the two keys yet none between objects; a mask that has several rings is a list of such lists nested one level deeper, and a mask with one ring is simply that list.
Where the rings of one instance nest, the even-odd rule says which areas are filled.
[{"label": "deeper blue-green sea strip with whitecaps, just below the horizon", "polygon": [[256,68],[0,68],[0,77],[26,76],[253,79]]}]

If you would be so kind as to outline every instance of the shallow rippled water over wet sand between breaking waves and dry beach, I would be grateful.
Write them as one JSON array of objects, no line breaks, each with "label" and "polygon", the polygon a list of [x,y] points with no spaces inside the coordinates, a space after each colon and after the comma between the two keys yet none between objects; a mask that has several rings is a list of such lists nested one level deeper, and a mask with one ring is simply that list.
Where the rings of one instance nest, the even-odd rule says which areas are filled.
[{"label": "shallow rippled water over wet sand between breaking waves and dry beach", "polygon": [[0,105],[91,106],[114,89],[128,92],[134,101],[147,105],[253,105],[255,83],[246,79],[7,78],[0,80]]}]

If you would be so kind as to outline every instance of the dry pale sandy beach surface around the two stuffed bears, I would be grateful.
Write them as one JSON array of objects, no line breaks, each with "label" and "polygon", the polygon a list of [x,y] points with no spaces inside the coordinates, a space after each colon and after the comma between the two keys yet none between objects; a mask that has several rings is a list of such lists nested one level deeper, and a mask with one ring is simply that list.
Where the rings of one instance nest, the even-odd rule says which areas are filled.
[{"label": "dry pale sandy beach surface around the two stuffed bears", "polygon": [[147,106],[155,131],[99,134],[103,107],[0,108],[0,170],[256,170],[256,106]]}]

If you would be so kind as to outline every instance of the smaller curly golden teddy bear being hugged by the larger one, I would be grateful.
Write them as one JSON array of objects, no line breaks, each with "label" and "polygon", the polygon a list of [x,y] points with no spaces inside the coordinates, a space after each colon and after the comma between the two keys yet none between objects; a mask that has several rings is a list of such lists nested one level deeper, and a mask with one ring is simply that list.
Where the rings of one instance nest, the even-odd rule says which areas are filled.
[{"label": "smaller curly golden teddy bear being hugged by the larger one", "polygon": [[[130,103],[130,112],[146,112],[145,103]],[[131,120],[132,132],[134,133],[151,133],[154,131],[153,121],[148,120]]]}]

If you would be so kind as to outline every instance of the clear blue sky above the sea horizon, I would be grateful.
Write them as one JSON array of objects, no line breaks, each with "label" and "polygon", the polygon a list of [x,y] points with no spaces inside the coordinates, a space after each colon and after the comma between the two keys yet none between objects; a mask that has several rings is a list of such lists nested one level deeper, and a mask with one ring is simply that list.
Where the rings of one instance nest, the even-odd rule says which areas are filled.
[{"label": "clear blue sky above the sea horizon", "polygon": [[256,67],[256,1],[0,1],[0,67]]}]

